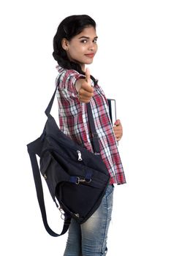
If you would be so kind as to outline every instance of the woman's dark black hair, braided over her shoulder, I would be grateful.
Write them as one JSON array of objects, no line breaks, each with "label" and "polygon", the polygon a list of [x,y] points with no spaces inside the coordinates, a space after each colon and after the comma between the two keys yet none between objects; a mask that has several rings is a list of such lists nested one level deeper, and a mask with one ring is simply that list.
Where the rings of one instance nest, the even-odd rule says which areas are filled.
[{"label": "woman's dark black hair, braided over her shoulder", "polygon": [[63,38],[71,40],[72,37],[80,34],[88,26],[93,26],[96,29],[95,21],[88,15],[72,15],[61,21],[53,38],[53,58],[58,62],[59,66],[64,69],[75,69],[80,74],[84,74],[80,64],[68,59],[66,51],[62,48],[61,41]]}]

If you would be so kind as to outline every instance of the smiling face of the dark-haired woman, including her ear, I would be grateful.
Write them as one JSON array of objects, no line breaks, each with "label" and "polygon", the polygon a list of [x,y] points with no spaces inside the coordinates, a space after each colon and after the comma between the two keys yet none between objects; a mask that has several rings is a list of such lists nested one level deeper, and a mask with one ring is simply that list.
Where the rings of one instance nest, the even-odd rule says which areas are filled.
[{"label": "smiling face of the dark-haired woman, including her ear", "polygon": [[63,39],[62,46],[69,60],[79,63],[85,71],[85,64],[91,64],[94,60],[97,51],[96,40],[96,30],[93,26],[88,26],[70,41]]}]

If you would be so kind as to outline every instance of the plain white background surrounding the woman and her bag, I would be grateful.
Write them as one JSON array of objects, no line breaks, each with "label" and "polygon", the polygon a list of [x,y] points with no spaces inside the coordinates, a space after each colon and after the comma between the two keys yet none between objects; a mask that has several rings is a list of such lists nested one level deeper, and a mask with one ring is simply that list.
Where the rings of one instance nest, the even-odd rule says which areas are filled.
[{"label": "plain white background surrounding the woman and her bag", "polygon": [[[1,255],[64,252],[67,235],[53,238],[43,227],[26,144],[41,134],[55,89],[53,36],[74,14],[96,20],[99,53],[89,68],[123,124],[127,184],[115,186],[107,255],[171,255],[170,13],[164,0],[1,1]],[[46,187],[45,200],[60,232]]]}]

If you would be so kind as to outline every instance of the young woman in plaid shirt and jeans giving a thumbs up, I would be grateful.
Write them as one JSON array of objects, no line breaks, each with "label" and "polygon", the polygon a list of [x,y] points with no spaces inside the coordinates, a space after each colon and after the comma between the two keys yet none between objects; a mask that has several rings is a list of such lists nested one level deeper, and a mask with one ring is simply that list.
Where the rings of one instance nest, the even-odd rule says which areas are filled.
[{"label": "young woman in plaid shirt and jeans giving a thumbs up", "polygon": [[97,51],[95,21],[88,15],[65,18],[58,26],[53,49],[60,75],[57,90],[60,128],[69,138],[93,152],[86,109],[86,103],[90,102],[102,159],[111,177],[95,213],[83,225],[72,219],[64,256],[102,256],[107,253],[113,184],[124,184],[126,180],[116,142],[122,137],[121,121],[117,120],[115,127],[112,126],[104,92],[86,69]]}]

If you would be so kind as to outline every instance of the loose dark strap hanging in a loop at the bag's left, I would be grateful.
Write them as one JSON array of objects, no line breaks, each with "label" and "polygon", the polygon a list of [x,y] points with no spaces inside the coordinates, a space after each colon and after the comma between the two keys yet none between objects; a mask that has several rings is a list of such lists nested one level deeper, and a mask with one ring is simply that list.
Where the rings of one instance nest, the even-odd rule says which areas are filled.
[{"label": "loose dark strap hanging in a loop at the bag's left", "polygon": [[47,233],[50,234],[50,236],[56,236],[57,237],[57,236],[64,235],[64,233],[66,233],[66,231],[69,228],[71,218],[68,215],[64,214],[64,227],[63,227],[63,230],[61,231],[60,234],[57,234],[53,230],[51,230],[51,228],[49,227],[49,225],[47,223],[45,201],[44,201],[44,195],[43,195],[43,189],[42,189],[42,180],[41,180],[41,176],[40,176],[40,172],[39,172],[39,166],[38,166],[37,157],[36,157],[36,154],[39,154],[39,152],[36,151],[36,153],[35,153],[35,151],[33,150],[35,147],[39,148],[39,143],[41,143],[40,138],[38,138],[37,140],[34,140],[32,143],[29,143],[27,145],[28,154],[29,154],[29,157],[31,159],[31,166],[32,166],[33,175],[34,175],[34,183],[35,183],[36,190],[37,190],[37,199],[38,199],[38,202],[39,202],[39,208],[41,210],[42,220],[43,220],[45,229],[47,230]]}]

